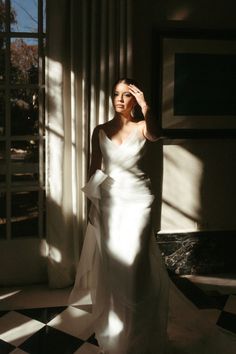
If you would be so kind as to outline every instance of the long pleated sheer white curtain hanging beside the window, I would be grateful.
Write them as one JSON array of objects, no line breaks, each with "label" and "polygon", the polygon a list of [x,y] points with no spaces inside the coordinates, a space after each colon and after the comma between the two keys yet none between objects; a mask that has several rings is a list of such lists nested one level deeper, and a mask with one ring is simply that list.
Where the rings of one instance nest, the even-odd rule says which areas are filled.
[{"label": "long pleated sheer white curtain hanging beside the window", "polygon": [[51,287],[66,287],[83,242],[90,137],[112,116],[114,80],[131,75],[131,0],[48,0],[47,6],[48,274]]}]

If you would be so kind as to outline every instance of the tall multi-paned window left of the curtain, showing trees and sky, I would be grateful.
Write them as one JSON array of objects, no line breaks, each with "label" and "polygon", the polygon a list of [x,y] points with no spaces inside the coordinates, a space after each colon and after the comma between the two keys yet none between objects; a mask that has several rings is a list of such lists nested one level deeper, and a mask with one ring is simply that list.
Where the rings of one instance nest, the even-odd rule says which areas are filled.
[{"label": "tall multi-paned window left of the curtain, showing trees and sky", "polygon": [[0,0],[0,239],[45,235],[46,0]]}]

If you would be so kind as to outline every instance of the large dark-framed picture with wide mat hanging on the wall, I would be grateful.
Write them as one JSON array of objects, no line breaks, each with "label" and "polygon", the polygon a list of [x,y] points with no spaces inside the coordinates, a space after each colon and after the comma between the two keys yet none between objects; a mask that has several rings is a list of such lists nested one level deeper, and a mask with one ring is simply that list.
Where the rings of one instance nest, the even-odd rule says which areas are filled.
[{"label": "large dark-framed picture with wide mat hanging on the wall", "polygon": [[160,36],[161,127],[236,133],[236,36]]}]

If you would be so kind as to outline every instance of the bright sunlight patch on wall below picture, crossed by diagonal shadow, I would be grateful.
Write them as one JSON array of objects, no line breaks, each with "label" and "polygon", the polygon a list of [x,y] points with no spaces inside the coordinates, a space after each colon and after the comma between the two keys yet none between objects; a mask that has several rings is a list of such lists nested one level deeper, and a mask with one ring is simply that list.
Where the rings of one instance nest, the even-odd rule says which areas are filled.
[{"label": "bright sunlight patch on wall below picture, crossed by diagonal shadow", "polygon": [[202,161],[181,146],[164,147],[161,231],[194,231],[201,221]]}]

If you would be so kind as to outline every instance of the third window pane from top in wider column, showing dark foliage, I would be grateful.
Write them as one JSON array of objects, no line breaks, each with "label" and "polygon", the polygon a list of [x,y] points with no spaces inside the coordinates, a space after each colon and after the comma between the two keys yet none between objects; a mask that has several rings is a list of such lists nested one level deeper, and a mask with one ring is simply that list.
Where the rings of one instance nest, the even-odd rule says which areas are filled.
[{"label": "third window pane from top in wider column, showing dark foliage", "polygon": [[13,90],[11,93],[11,134],[38,134],[38,91]]}]

